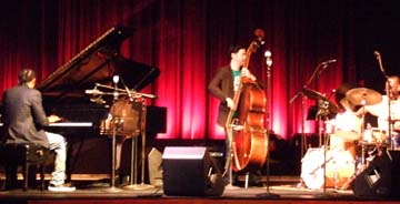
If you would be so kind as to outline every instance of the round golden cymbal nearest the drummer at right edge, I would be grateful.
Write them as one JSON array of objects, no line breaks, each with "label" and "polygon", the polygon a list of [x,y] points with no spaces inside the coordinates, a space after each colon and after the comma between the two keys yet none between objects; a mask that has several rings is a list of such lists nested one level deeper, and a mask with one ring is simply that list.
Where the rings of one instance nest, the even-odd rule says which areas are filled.
[{"label": "round golden cymbal nearest the drummer at right edge", "polygon": [[356,88],[346,93],[346,98],[356,105],[373,105],[382,101],[382,95],[371,89]]}]

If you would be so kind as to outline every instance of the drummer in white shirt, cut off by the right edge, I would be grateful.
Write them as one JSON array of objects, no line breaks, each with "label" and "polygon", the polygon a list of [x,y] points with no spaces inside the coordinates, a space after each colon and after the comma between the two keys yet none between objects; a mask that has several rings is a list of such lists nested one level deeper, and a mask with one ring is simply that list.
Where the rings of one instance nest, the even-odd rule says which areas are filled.
[{"label": "drummer in white shirt, cut off by the right edge", "polygon": [[[390,116],[392,121],[391,133],[392,137],[388,136],[387,142],[390,144],[390,139],[393,139],[393,147],[398,149],[400,143],[400,79],[397,75],[389,76],[386,83],[387,95],[382,95],[382,101],[378,104],[366,105],[366,112],[378,116],[378,128],[380,131],[388,133],[388,113],[390,100]],[[359,111],[360,112],[360,111]]]}]

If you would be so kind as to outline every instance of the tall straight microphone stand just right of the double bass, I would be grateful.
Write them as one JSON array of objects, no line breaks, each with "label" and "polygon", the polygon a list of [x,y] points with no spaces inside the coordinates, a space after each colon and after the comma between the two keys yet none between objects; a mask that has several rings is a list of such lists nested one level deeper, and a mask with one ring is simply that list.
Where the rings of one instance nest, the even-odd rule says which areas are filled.
[{"label": "tall straight microphone stand just right of the double bass", "polygon": [[[272,59],[271,59],[271,52],[267,51],[266,52],[266,57],[267,57],[267,141],[268,144],[270,143],[270,126],[271,126],[271,115],[270,115],[270,110],[271,110],[271,102],[270,99],[272,99],[270,96],[271,94],[271,67],[272,67]],[[270,192],[269,186],[270,186],[270,152],[269,152],[269,145],[267,145],[267,164],[266,164],[266,171],[267,171],[267,192],[266,193],[260,193],[257,194],[257,197],[262,197],[262,198],[277,198],[280,197],[280,195],[278,194],[273,194]]]}]

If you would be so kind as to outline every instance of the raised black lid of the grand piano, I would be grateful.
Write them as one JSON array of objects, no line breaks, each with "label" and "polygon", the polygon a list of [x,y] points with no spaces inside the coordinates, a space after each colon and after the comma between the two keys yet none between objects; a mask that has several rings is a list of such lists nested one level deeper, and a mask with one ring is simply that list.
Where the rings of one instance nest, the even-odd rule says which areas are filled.
[{"label": "raised black lid of the grand piano", "polygon": [[111,83],[114,74],[137,91],[153,82],[160,74],[158,68],[120,55],[122,41],[131,35],[132,29],[127,27],[109,29],[37,85],[43,101],[81,99],[84,90],[92,89],[94,83]]}]

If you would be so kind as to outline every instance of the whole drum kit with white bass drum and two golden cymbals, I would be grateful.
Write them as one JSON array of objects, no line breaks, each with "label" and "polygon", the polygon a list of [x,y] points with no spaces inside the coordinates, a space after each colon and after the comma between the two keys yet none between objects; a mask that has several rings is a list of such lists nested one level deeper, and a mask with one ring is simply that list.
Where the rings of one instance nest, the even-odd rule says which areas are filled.
[{"label": "whole drum kit with white bass drum and two golden cymbals", "polygon": [[[323,94],[307,88],[302,89],[302,93],[308,99],[316,100],[320,104],[317,120],[329,120],[326,115],[340,112],[340,109]],[[366,115],[364,106],[380,103],[382,95],[371,89],[356,88],[346,93],[346,99],[352,104],[361,106],[361,124],[363,124]],[[327,123],[329,122],[323,124]],[[343,146],[350,144],[347,147],[336,147],[332,137],[329,141],[330,144],[328,144],[327,139],[330,135],[324,133],[326,140],[322,146],[320,143],[320,147],[309,147],[307,150],[307,153],[301,160],[301,184],[304,184],[311,190],[326,190],[326,187],[348,190],[357,174],[368,166],[366,161],[369,160],[366,160],[366,156],[369,156],[369,159],[373,157],[373,152],[377,152],[376,150],[382,150],[382,147],[389,146],[386,144],[384,132],[371,128],[370,124],[366,130],[363,125],[361,125],[360,133],[353,132],[353,134],[359,134],[356,136],[356,141],[351,140],[354,139],[354,136],[349,134],[350,133],[344,132],[333,135],[343,143]],[[354,147],[356,151],[351,151],[349,146]],[[360,149],[361,151],[358,151]],[[360,155],[358,154],[361,154],[361,162],[359,164],[357,159],[360,157]]]}]

